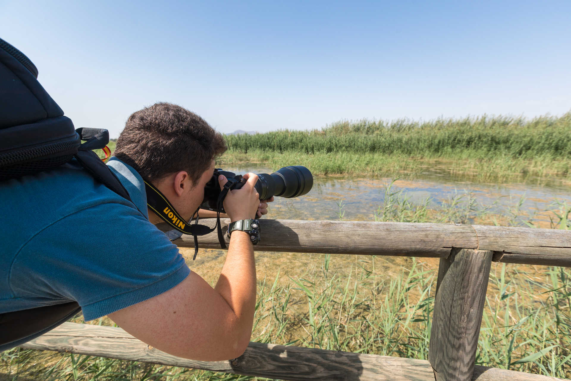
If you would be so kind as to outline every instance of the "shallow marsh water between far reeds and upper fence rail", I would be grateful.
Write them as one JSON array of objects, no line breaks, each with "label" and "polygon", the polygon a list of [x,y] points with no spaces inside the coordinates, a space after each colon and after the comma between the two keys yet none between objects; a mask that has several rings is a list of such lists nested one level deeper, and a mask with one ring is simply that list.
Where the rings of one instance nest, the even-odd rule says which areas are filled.
[{"label": "shallow marsh water between far reeds and upper fence rail", "polygon": [[[237,174],[246,172],[272,173],[274,170],[259,166],[228,167],[225,170]],[[385,187],[394,178],[316,177],[313,189],[307,195],[284,199],[276,197],[266,218],[337,220],[373,220],[374,213],[382,206]],[[538,184],[486,184],[454,178],[443,171],[430,171],[415,179],[396,179],[391,192],[401,191],[401,196],[413,203],[428,199],[428,207],[438,209],[452,198],[468,204],[468,199],[478,208],[489,208],[490,214],[517,213],[516,224],[524,226],[525,220],[548,222],[545,210],[553,210],[556,200],[571,204],[571,186],[552,178]],[[341,206],[341,208],[340,208]]]}]

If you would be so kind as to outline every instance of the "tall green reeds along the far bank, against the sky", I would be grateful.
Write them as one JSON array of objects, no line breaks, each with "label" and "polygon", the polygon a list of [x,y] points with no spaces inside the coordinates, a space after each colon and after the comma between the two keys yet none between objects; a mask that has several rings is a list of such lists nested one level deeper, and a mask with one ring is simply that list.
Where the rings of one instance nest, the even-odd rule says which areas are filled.
[{"label": "tall green reeds along the far bank, against the sky", "polygon": [[571,113],[561,117],[436,119],[337,122],[320,130],[280,130],[264,134],[227,135],[231,150],[449,155],[470,151],[480,157],[508,155],[553,158],[571,155]]}]

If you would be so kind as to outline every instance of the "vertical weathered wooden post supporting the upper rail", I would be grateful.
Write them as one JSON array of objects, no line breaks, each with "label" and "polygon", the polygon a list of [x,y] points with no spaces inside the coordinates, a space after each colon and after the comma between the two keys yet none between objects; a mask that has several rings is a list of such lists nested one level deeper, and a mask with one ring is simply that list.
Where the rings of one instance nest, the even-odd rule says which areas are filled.
[{"label": "vertical weathered wooden post supporting the upper rail", "polygon": [[428,351],[436,381],[472,379],[492,254],[453,248],[440,258]]}]

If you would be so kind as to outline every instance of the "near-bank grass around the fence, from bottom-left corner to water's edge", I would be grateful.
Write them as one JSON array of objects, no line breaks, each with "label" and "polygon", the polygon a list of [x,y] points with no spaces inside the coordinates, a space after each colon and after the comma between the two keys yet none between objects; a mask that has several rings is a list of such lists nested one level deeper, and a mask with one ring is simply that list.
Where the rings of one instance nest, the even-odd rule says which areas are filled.
[{"label": "near-bank grass around the fence, from bottom-left corner to water's edge", "polygon": [[[339,219],[344,204],[339,203]],[[469,193],[441,207],[411,202],[392,184],[371,219],[400,222],[536,226],[515,200],[500,214]],[[550,225],[571,229],[571,206],[554,201]],[[262,253],[263,254],[263,253]],[[252,340],[357,353],[427,359],[437,260],[284,254],[295,271],[258,281]],[[262,255],[263,256],[263,255]],[[275,258],[268,256],[267,258]],[[350,258],[351,262],[348,262]],[[221,258],[223,259],[223,258]],[[265,259],[263,268],[272,266]],[[275,260],[275,259],[274,259]],[[395,261],[398,265],[396,265]],[[212,274],[210,282],[215,282]],[[571,377],[571,270],[493,263],[476,363]],[[81,322],[81,316],[75,319]],[[91,324],[112,324],[107,318]],[[15,348],[0,356],[0,380],[242,380],[246,376]]]}]

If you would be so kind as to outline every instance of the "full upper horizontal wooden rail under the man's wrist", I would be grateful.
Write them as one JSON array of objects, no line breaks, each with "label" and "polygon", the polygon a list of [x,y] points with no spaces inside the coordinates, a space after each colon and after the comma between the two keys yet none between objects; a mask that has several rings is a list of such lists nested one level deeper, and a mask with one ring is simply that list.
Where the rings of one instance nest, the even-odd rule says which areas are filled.
[{"label": "full upper horizontal wooden rail under the man's wrist", "polygon": [[[215,219],[201,223],[214,226]],[[229,220],[223,219],[226,232]],[[444,223],[260,220],[256,250],[448,258],[452,248],[493,251],[494,262],[571,267],[571,231]],[[220,248],[216,231],[199,247]],[[192,236],[175,241],[194,247]]]}]

